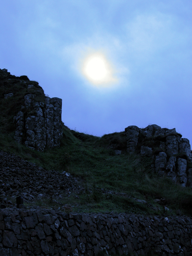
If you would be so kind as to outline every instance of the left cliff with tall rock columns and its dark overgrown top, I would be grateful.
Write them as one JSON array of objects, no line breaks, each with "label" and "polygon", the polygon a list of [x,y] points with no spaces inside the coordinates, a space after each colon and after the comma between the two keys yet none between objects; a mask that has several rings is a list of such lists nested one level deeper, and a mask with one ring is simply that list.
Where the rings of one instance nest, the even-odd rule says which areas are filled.
[{"label": "left cliff with tall rock columns and its dark overgrown top", "polygon": [[[62,99],[46,97],[38,82],[27,76],[16,77],[4,69],[0,70],[0,78],[2,102],[10,109],[10,116],[15,114],[14,139],[38,151],[59,147],[63,134]],[[6,119],[5,116],[3,121]]]}]

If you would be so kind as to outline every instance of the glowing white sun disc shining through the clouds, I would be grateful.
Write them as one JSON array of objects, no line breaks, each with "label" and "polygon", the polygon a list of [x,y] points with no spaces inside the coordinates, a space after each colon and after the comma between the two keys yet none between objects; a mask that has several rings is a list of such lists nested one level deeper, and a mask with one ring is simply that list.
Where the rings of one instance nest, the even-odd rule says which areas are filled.
[{"label": "glowing white sun disc shining through the clouds", "polygon": [[92,84],[105,86],[115,81],[110,63],[104,54],[88,55],[83,62],[82,72]]}]

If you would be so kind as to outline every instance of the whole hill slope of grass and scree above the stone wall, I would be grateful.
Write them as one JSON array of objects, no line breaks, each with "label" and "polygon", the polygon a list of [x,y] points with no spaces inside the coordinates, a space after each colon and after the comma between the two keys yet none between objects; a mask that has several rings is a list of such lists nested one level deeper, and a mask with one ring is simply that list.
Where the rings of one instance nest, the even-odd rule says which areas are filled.
[{"label": "whole hill slope of grass and scree above the stone wall", "polygon": [[[128,154],[125,132],[96,137],[63,126],[60,147],[38,152],[18,144],[14,140],[13,118],[28,93],[26,84],[34,83],[38,87],[40,92],[36,95],[37,100],[43,101],[45,95],[38,83],[28,81],[26,76],[14,79],[9,76],[0,77],[2,205],[14,207],[16,196],[20,194],[28,208],[39,206],[72,212],[192,214],[192,189],[182,188],[152,172],[152,156]],[[12,100],[4,98],[4,94],[12,92],[15,95]],[[122,154],[116,155],[114,149],[122,150]]]}]

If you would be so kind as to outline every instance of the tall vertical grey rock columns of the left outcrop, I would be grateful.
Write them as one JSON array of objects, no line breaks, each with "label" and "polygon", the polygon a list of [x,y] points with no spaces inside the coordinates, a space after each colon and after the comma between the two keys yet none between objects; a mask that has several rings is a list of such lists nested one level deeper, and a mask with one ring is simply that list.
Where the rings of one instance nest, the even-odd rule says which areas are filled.
[{"label": "tall vertical grey rock columns of the left outcrop", "polygon": [[34,94],[27,94],[21,110],[14,116],[16,141],[38,151],[60,146],[62,99],[46,97],[45,103],[36,102]]}]

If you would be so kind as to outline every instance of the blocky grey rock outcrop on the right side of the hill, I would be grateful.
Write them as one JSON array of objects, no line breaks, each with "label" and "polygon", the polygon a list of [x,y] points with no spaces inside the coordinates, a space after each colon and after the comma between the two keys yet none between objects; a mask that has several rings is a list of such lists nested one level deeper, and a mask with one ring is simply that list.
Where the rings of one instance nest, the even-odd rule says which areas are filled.
[{"label": "blocky grey rock outcrop on the right side of the hill", "polygon": [[167,176],[183,187],[192,187],[192,152],[189,140],[181,138],[176,129],[156,124],[146,128],[125,128],[127,152],[152,158],[152,170]]}]

